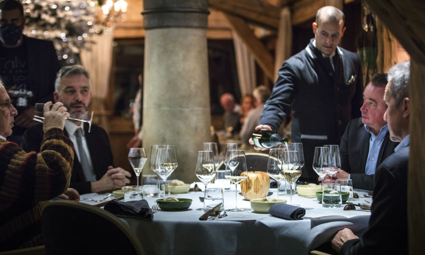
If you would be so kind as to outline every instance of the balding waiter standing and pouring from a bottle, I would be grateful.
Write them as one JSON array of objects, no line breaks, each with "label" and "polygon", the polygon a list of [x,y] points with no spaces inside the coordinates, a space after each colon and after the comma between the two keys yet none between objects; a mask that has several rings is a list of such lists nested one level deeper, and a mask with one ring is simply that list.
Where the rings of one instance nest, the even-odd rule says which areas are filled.
[{"label": "balding waiter standing and pouring from a bottle", "polygon": [[317,182],[311,168],[314,147],[339,144],[348,122],[360,117],[363,82],[357,54],[337,47],[344,14],[331,6],[320,8],[312,29],[314,39],[279,69],[255,129],[277,131],[290,109],[291,140],[302,142],[304,150],[300,180]]}]

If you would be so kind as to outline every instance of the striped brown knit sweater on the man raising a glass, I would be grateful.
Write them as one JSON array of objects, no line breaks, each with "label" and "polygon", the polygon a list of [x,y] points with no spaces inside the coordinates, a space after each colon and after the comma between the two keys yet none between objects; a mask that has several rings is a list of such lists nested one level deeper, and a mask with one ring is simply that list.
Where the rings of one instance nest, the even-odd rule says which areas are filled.
[{"label": "striped brown knit sweater on the man raising a glass", "polygon": [[69,186],[72,160],[72,142],[58,128],[44,134],[38,154],[0,139],[0,250],[42,244],[43,205]]}]

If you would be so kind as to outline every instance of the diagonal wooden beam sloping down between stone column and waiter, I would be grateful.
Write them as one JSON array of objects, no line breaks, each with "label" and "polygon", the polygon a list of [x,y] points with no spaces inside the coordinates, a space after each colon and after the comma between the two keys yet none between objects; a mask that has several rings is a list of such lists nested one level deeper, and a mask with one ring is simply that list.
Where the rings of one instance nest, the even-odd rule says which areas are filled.
[{"label": "diagonal wooden beam sloping down between stone column and waiter", "polygon": [[240,39],[245,43],[249,52],[254,57],[255,61],[258,63],[260,68],[263,70],[264,74],[268,79],[273,81],[274,73],[274,59],[273,56],[265,49],[264,45],[255,37],[252,31],[249,29],[246,22],[236,16],[229,15],[224,13],[227,21],[230,23],[230,26],[234,32],[240,37]]}]

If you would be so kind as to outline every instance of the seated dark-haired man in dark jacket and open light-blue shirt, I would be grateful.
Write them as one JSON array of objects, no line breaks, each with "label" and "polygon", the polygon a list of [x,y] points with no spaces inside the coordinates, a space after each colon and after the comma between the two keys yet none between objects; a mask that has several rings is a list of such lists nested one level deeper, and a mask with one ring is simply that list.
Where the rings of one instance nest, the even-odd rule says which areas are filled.
[{"label": "seated dark-haired man in dark jacket and open light-blue shirt", "polygon": [[[391,155],[398,144],[389,140],[388,127],[383,120],[386,83],[386,74],[376,74],[372,78],[363,92],[361,118],[351,120],[342,135],[339,152],[343,170],[333,177],[352,179],[354,188],[373,190],[376,166]],[[328,175],[323,182],[330,182]]]}]

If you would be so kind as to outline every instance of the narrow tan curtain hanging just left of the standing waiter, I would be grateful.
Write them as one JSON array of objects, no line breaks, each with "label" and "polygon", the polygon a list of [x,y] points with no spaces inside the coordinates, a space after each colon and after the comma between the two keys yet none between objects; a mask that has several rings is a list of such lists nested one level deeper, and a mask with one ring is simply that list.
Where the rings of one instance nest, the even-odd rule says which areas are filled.
[{"label": "narrow tan curtain hanging just left of the standing waiter", "polygon": [[274,56],[274,81],[277,79],[277,71],[283,61],[290,57],[292,49],[292,23],[288,7],[280,11],[279,29],[277,31],[276,53]]}]

